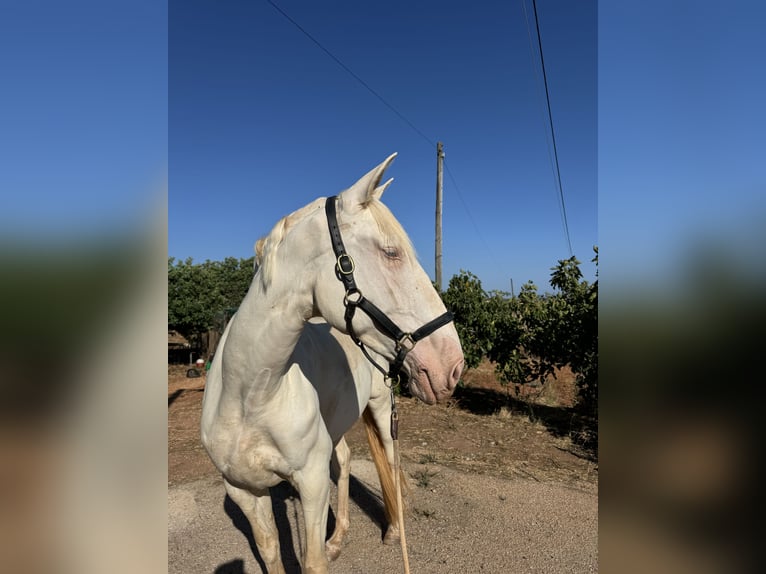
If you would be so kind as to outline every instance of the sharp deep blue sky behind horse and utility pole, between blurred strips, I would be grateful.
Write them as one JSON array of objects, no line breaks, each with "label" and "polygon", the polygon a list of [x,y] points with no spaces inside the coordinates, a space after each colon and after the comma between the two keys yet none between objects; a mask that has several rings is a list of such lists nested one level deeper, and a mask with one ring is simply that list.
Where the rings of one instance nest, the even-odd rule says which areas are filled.
[{"label": "sharp deep blue sky behind horse and utility pole, between blurred strips", "polygon": [[[546,289],[569,257],[537,55],[521,2],[171,2],[169,242],[177,258],[250,257],[283,215],[391,152],[385,201],[434,269],[435,142],[445,146],[443,281]],[[596,11],[539,2],[573,253],[597,237]],[[534,50],[534,59],[531,50]]]}]

